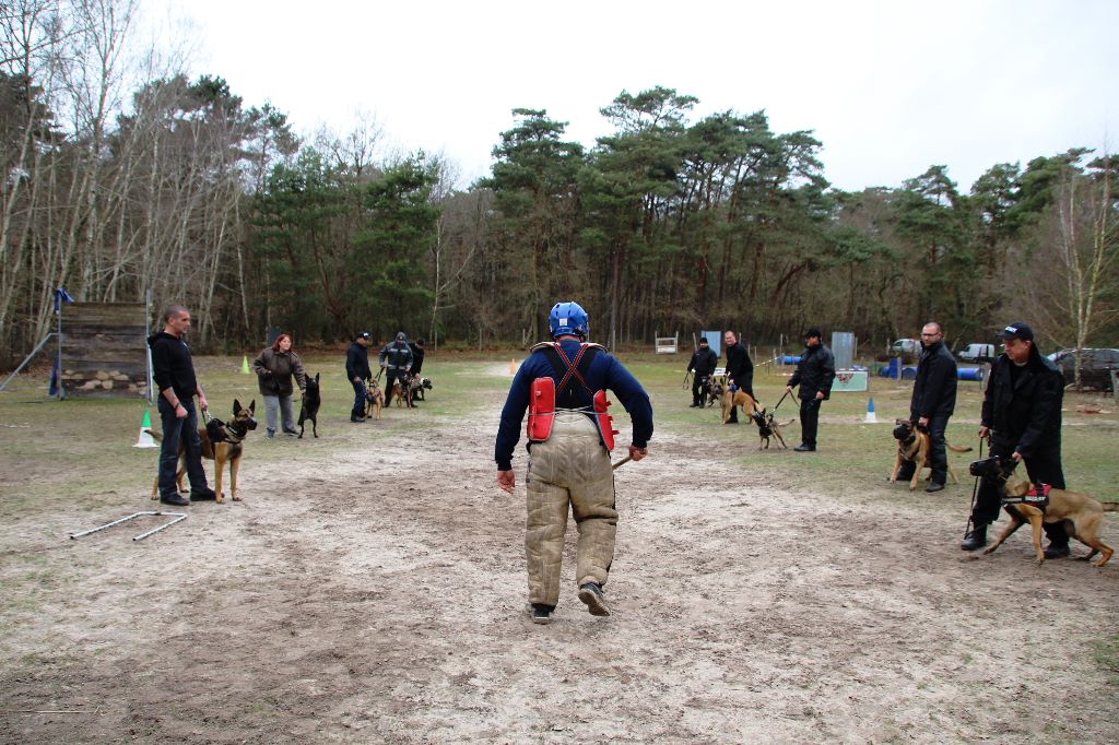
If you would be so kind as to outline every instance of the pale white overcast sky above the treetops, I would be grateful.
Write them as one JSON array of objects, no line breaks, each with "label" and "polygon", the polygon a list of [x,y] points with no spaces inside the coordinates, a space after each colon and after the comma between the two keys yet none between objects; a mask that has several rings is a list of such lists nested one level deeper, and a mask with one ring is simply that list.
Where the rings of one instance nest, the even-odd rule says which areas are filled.
[{"label": "pale white overcast sky above the treetops", "polygon": [[546,109],[590,147],[611,131],[601,107],[657,85],[698,97],[693,121],[765,110],[775,132],[814,130],[847,190],[931,164],[967,190],[994,163],[1119,139],[1116,0],[145,6],[166,2],[194,23],[192,73],[303,134],[372,116],[387,145],[457,162],[463,186],[489,172],[510,110]]}]

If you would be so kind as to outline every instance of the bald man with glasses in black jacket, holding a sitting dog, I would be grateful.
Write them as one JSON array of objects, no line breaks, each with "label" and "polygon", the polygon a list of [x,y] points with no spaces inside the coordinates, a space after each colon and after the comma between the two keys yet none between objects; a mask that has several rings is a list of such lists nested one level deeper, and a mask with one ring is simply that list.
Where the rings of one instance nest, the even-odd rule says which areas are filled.
[{"label": "bald man with glasses in black jacket, holding a sitting dog", "polygon": [[[921,358],[910,400],[910,419],[929,433],[929,469],[932,474],[925,491],[940,491],[948,479],[948,452],[944,430],[956,411],[956,360],[944,346],[944,332],[937,322],[921,329]],[[900,481],[913,478],[916,463],[906,462],[897,472]]]}]

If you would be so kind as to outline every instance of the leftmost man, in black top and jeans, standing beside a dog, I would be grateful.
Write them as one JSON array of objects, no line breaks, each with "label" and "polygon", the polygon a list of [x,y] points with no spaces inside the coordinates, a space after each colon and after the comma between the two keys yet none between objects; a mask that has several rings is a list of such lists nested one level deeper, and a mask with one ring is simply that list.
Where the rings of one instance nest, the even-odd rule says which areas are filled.
[{"label": "leftmost man, in black top and jeans, standing beside a dog", "polygon": [[[163,427],[163,441],[159,451],[159,501],[176,507],[217,497],[206,484],[206,471],[203,470],[203,446],[198,436],[195,396],[198,396],[201,411],[205,412],[209,405],[195,377],[190,348],[182,339],[189,329],[190,312],[182,305],[169,305],[163,311],[163,330],[148,337],[152,377],[159,388],[157,408]],[[179,496],[175,480],[179,443],[182,443],[187,477],[190,479],[189,501]]]}]

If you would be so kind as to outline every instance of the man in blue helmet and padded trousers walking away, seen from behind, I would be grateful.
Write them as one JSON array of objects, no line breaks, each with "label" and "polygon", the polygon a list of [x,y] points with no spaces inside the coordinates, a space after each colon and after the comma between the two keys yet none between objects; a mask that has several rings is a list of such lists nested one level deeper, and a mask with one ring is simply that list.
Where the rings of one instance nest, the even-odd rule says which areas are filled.
[{"label": "man in blue helmet and padded trousers walking away, seen from behind", "polygon": [[517,370],[501,409],[493,458],[497,484],[516,487],[513,452],[528,409],[528,612],[533,623],[551,623],[560,601],[560,567],[568,504],[579,525],[575,581],[592,615],[610,615],[602,586],[614,556],[618,511],[610,450],[614,444],[612,390],[633,421],[626,460],[640,461],[652,436],[652,406],[641,384],[599,345],[586,343],[586,311],[556,303],[548,314],[554,341],[533,347]]}]

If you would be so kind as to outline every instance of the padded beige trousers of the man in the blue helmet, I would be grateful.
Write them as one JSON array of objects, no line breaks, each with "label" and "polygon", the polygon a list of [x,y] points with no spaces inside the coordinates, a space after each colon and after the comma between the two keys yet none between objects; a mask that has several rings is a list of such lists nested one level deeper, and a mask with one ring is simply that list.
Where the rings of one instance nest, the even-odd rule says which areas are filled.
[{"label": "padded beige trousers of the man in the blue helmet", "polygon": [[560,412],[546,442],[533,443],[528,459],[528,602],[555,605],[567,504],[579,526],[576,586],[606,583],[614,558],[614,473],[599,427],[586,414]]}]

